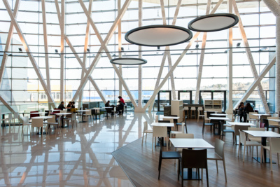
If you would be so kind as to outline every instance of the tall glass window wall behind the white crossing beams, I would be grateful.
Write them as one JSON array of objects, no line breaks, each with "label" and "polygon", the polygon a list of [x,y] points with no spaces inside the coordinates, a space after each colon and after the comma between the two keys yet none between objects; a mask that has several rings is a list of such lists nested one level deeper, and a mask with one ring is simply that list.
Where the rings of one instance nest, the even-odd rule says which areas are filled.
[{"label": "tall glass window wall behind the white crossing beams", "polygon": [[[14,8],[15,0],[8,1],[10,6]],[[83,1],[88,8],[89,1]],[[123,6],[124,0],[121,1]],[[211,10],[216,6],[217,0],[211,1]],[[165,15],[167,24],[172,25],[174,13],[176,10],[177,1],[165,1]],[[123,57],[138,57],[138,46],[132,45],[125,41],[125,33],[130,29],[138,27],[139,13],[138,1],[131,1],[130,6],[121,20],[121,43],[124,49]],[[244,25],[248,43],[251,47],[255,67],[258,74],[262,71],[265,65],[269,62],[269,53],[274,53],[275,46],[275,17],[269,11],[262,1],[237,1],[241,20]],[[60,7],[60,1],[59,1]],[[188,22],[197,18],[197,16],[205,15],[207,8],[207,0],[192,0],[182,1],[179,10],[176,25],[187,27]],[[48,51],[49,51],[49,66],[50,66],[50,87],[51,95],[55,102],[60,101],[60,27],[57,18],[57,9],[55,1],[45,1],[46,20],[48,29]],[[85,46],[85,33],[87,28],[87,17],[78,1],[66,0],[65,8],[65,33],[69,41],[75,48],[78,56],[83,61],[83,52]],[[227,13],[228,7],[226,1],[221,4],[216,13]],[[93,1],[92,2],[92,20],[94,21],[102,38],[105,39],[109,29],[113,25],[114,20],[118,15],[118,1]],[[41,1],[24,1],[20,2],[18,11],[18,23],[27,40],[31,52],[41,74],[46,81],[45,71],[45,49],[43,39],[43,18]],[[6,45],[8,31],[10,27],[10,17],[6,11],[3,1],[0,1],[0,50],[1,56]],[[162,11],[160,9],[160,0],[143,2],[143,22],[142,25],[162,25]],[[12,44],[9,49],[11,55],[8,56],[6,70],[1,83],[0,94],[10,104],[22,103],[42,103],[48,102],[43,87],[38,80],[38,76],[32,67],[29,57],[25,53],[25,49],[20,42],[20,38],[16,31],[13,35]],[[193,32],[195,34],[195,32]],[[200,53],[202,46],[202,36],[198,36],[197,41],[188,50],[179,66],[174,71],[175,90],[193,90],[193,100],[195,99],[195,90],[197,85],[197,71],[200,63]],[[227,90],[228,89],[228,30],[221,32],[211,32],[207,34],[206,53],[204,56],[204,65],[202,71],[202,81],[200,90]],[[240,45],[239,45],[240,43]],[[195,48],[195,45],[199,45]],[[178,57],[188,43],[183,43],[177,46],[171,46],[172,64],[176,62]],[[70,101],[76,93],[80,85],[82,69],[73,51],[69,48],[66,41],[65,60],[64,60],[64,100]],[[88,68],[94,62],[94,57],[97,55],[101,43],[97,38],[94,30],[90,26],[88,51],[85,54],[85,66]],[[239,48],[237,47],[239,46]],[[248,87],[253,83],[253,74],[246,56],[243,41],[238,27],[233,28],[233,100],[241,97]],[[20,53],[19,48],[23,53]],[[113,37],[109,41],[108,49],[113,57],[118,56],[118,28],[113,33]],[[58,51],[56,53],[56,50]],[[148,60],[147,64],[142,66],[143,71],[143,103],[148,102],[148,99],[153,94],[155,89],[156,79],[165,48],[143,47],[143,58]],[[151,51],[153,50],[153,51]],[[166,60],[165,67],[162,71],[162,79],[169,71],[168,62]],[[102,53],[102,57],[97,63],[94,71],[91,74],[94,81],[102,90],[106,100],[116,102],[118,99],[119,80],[116,75],[109,58],[106,53]],[[134,99],[138,100],[138,66],[126,67],[123,66],[123,78],[125,79],[128,88],[130,88]],[[262,80],[262,88],[265,90],[267,102],[269,102],[270,110],[274,111],[274,74],[269,73]],[[161,90],[172,90],[170,78]],[[130,104],[130,98],[127,92],[123,89],[123,97]],[[255,108],[264,112],[260,104],[260,97],[256,89],[250,97],[249,101],[253,101]],[[83,89],[82,102],[102,102],[93,85],[88,81]]]}]

